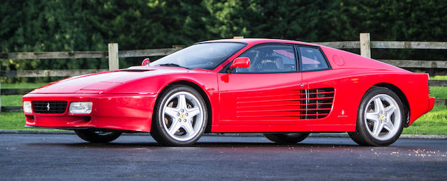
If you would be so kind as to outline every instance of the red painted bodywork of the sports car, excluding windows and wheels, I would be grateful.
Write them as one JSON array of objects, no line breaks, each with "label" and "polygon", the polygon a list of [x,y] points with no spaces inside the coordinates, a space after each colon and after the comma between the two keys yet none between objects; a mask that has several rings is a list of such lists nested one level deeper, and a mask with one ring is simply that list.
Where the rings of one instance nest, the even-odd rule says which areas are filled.
[{"label": "red painted bodywork of the sports car, excluding windows and wheels", "polygon": [[[97,127],[150,132],[159,93],[176,81],[196,84],[209,100],[212,132],[351,132],[356,128],[362,96],[374,85],[392,85],[409,103],[410,122],[433,108],[427,74],[413,73],[370,58],[305,42],[230,39],[247,46],[214,70],[135,66],[57,81],[24,95],[24,101],[93,102],[87,115],[25,113],[26,125],[36,127]],[[287,43],[321,47],[332,67],[316,72],[231,74],[228,63],[259,43]],[[279,52],[284,53],[284,52]],[[288,55],[291,56],[291,55]],[[324,118],[305,118],[302,93],[333,88],[333,102]],[[321,92],[320,92],[321,93]],[[323,110],[322,109],[322,110]],[[310,110],[309,111],[315,111]],[[320,113],[320,112],[318,112]],[[308,113],[309,114],[309,113]]]}]

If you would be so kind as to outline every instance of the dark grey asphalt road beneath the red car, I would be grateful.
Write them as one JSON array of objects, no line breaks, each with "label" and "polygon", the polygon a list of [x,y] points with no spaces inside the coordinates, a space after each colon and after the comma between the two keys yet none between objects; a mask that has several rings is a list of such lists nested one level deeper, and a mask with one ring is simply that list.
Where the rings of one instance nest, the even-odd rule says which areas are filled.
[{"label": "dark grey asphalt road beneath the red car", "polygon": [[74,134],[0,134],[0,180],[446,180],[446,139],[362,147],[348,138],[277,145],[260,136],[203,136],[186,148],[150,136],[107,144]]}]

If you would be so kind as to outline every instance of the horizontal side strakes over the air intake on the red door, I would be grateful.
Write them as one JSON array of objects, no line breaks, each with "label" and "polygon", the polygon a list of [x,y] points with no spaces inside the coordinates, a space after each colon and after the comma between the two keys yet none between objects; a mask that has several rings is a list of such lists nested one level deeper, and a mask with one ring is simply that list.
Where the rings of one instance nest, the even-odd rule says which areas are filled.
[{"label": "horizontal side strakes over the air intake on the red door", "polygon": [[334,88],[314,88],[237,97],[236,117],[244,120],[325,118],[332,108],[334,93]]}]

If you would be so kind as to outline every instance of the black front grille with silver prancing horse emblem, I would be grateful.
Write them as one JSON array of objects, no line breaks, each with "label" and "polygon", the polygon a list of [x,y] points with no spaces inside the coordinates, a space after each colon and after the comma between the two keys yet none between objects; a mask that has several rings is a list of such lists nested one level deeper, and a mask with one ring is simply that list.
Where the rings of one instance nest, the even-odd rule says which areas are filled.
[{"label": "black front grille with silver prancing horse emblem", "polygon": [[33,101],[32,104],[35,113],[65,113],[67,109],[66,101]]}]

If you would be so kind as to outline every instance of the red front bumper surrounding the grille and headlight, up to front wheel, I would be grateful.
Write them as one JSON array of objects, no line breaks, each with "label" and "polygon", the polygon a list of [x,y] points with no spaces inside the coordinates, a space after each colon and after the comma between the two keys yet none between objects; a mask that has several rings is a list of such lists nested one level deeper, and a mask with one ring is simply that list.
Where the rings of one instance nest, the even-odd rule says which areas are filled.
[{"label": "red front bumper surrounding the grille and headlight, up to front wheel", "polygon": [[91,113],[25,113],[27,127],[122,129],[149,132],[156,94],[27,94],[24,101],[89,101]]}]

